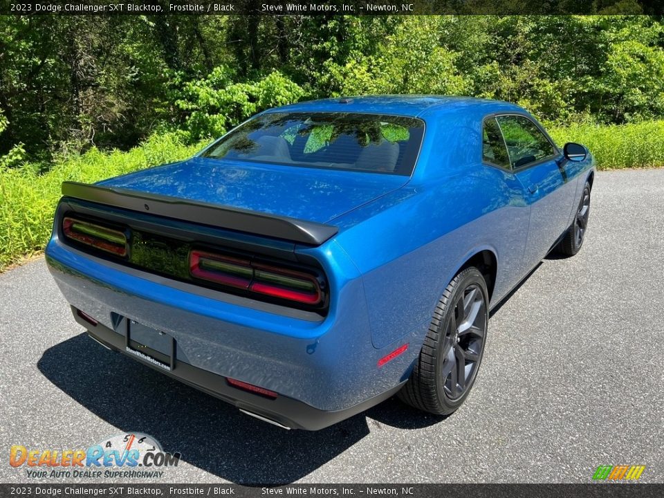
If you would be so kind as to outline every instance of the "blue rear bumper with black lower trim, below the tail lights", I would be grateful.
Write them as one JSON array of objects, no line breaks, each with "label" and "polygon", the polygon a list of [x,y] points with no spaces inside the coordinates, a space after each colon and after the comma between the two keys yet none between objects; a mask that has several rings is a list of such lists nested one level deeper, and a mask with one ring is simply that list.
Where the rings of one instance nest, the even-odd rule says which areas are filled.
[{"label": "blue rear bumper with black lower trim, below the tail lights", "polygon": [[[316,321],[201,295],[193,286],[83,254],[57,236],[46,261],[69,304],[98,322],[76,317],[102,344],[155,367],[124,351],[124,324],[135,320],[163,331],[175,340],[176,365],[172,372],[155,368],[287,427],[322,428],[380,403],[407,380],[420,347],[420,331],[413,331],[398,344],[374,348],[362,279],[354,275],[333,281],[338,299]],[[410,343],[404,354],[378,366],[404,342]],[[227,378],[279,396],[261,398]]]}]

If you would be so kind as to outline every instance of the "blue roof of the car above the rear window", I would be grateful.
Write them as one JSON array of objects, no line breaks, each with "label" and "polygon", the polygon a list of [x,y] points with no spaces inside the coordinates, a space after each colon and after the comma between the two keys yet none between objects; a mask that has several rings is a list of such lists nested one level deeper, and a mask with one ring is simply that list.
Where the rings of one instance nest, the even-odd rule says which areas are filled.
[{"label": "blue roof of the car above the rear window", "polygon": [[500,100],[472,97],[452,97],[447,95],[363,95],[297,102],[269,109],[274,112],[357,112],[394,114],[427,118],[449,112],[481,113],[519,112],[524,109]]}]

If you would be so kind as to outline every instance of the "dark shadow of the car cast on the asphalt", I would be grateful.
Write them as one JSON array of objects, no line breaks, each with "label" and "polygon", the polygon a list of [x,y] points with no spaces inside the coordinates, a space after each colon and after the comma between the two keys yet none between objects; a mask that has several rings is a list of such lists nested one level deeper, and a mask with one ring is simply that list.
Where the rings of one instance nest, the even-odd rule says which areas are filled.
[{"label": "dark shadow of the car cast on the asphalt", "polygon": [[368,423],[408,429],[440,420],[393,399],[318,432],[287,431],[112,353],[85,333],[47,349],[37,367],[118,433],[149,434],[183,461],[242,484],[300,479],[367,436]]}]

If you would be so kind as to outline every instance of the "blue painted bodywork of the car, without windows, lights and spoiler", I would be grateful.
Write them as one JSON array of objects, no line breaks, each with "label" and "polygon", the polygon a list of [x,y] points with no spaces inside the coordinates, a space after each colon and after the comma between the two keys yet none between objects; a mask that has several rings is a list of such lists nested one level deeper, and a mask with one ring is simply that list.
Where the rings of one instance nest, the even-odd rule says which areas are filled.
[{"label": "blue painted bodywork of the car, without windows, lights and spoiler", "polygon": [[[516,173],[481,163],[484,116],[529,116],[505,102],[392,95],[266,112],[273,111],[417,116],[426,130],[410,178],[196,157],[100,185],[337,225],[338,234],[322,246],[294,246],[295,255],[320,261],[329,279],[329,314],[320,321],[261,311],[249,299],[201,297],[154,275],[130,275],[66,246],[57,230],[46,255],[68,302],[109,328],[117,329],[118,315],[138,320],[172,334],[178,358],[191,365],[325,410],[350,407],[407,379],[437,300],[472,255],[495,255],[492,305],[505,297],[569,226],[594,168],[590,155],[582,163],[557,157]],[[533,184],[538,188],[529,192]],[[403,355],[377,367],[405,343]]]}]

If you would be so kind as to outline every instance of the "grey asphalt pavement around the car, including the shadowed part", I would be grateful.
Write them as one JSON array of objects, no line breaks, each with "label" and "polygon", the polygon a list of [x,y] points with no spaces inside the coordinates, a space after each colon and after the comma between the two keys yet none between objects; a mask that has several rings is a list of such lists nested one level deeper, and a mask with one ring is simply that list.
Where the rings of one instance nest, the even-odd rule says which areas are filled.
[{"label": "grey asphalt pavement around the car, including the shadowed part", "polygon": [[584,247],[545,259],[495,311],[455,414],[392,399],[285,431],[93,342],[37,259],[0,275],[0,482],[59,481],[10,467],[11,445],[122,432],[181,452],[156,482],[589,482],[620,464],[664,482],[663,309],[664,169],[600,172]]}]

